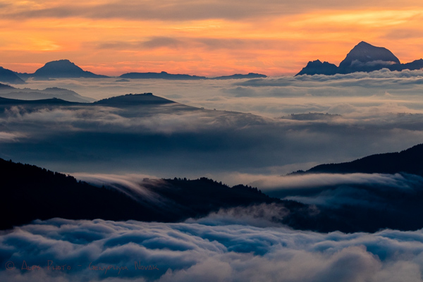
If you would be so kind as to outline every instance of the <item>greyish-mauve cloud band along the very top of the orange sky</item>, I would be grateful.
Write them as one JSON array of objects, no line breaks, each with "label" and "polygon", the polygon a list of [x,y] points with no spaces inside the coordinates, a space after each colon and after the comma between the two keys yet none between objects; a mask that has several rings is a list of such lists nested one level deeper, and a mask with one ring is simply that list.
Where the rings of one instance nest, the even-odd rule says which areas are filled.
[{"label": "greyish-mauve cloud band along the very top of the orange sky", "polygon": [[[8,9],[3,11],[4,18],[94,18],[110,19],[124,18],[131,20],[203,20],[223,18],[228,20],[240,20],[245,18],[278,17],[304,13],[305,11],[326,9],[345,9],[357,7],[374,7],[384,4],[382,1],[357,1],[355,4],[341,3],[334,0],[326,0],[319,5],[308,0],[298,1],[294,4],[281,1],[265,1],[257,4],[255,1],[162,1],[160,4],[154,1],[85,1],[83,4],[68,4],[66,1],[29,1],[25,6],[6,1]],[[412,2],[412,1],[411,1]],[[392,3],[395,4],[395,3]],[[411,3],[410,3],[411,4]],[[401,8],[407,7],[403,3]],[[335,18],[336,19],[336,18]]]}]

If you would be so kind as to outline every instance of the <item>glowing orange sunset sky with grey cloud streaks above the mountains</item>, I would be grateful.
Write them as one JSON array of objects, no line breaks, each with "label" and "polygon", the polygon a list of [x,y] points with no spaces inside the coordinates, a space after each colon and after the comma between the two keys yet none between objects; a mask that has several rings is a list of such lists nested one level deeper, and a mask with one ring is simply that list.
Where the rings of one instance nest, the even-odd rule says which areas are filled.
[{"label": "glowing orange sunset sky with grey cloud streaks above the mountains", "polygon": [[310,60],[338,64],[362,40],[404,63],[423,57],[421,1],[351,2],[0,0],[0,66],[292,75]]}]

